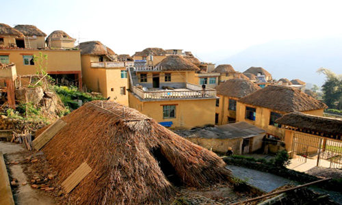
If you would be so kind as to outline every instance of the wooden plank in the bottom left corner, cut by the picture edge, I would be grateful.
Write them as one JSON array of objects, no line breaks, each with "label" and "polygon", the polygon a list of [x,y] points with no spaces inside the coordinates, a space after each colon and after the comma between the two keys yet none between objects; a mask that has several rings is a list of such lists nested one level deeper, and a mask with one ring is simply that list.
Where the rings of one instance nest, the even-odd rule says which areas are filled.
[{"label": "wooden plank in the bottom left corner, cut by the picture edge", "polygon": [[0,204],[14,205],[10,179],[2,152],[0,152]]}]

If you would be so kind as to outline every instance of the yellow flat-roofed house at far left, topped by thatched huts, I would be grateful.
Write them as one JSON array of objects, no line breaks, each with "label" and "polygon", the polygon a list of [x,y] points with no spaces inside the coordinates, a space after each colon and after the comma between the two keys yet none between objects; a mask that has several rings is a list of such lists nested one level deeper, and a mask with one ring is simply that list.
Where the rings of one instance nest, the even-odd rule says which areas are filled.
[{"label": "yellow flat-roofed house at far left, topped by thatched huts", "polygon": [[[16,64],[16,72],[20,79],[25,75],[47,72],[56,79],[57,83],[63,84],[62,79],[66,79],[68,84],[82,86],[80,52],[74,48],[73,43],[62,38],[60,46],[46,47],[44,42],[46,34],[37,27],[18,25],[16,28],[0,24],[1,63],[13,62]],[[49,39],[47,42],[58,39],[54,32],[47,38]],[[34,61],[34,56],[41,56],[42,65],[38,65],[41,63]],[[40,66],[42,70],[38,69]],[[21,81],[23,84],[28,83],[25,80]]]}]

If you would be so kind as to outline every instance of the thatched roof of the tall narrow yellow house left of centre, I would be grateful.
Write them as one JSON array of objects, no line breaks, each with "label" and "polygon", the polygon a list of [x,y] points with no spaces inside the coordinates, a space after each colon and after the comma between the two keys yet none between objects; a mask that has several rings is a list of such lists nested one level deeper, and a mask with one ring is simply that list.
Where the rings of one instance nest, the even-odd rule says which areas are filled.
[{"label": "thatched roof of the tall narrow yellow house left of centre", "polygon": [[79,50],[81,55],[116,55],[114,51],[99,41],[81,42]]}]

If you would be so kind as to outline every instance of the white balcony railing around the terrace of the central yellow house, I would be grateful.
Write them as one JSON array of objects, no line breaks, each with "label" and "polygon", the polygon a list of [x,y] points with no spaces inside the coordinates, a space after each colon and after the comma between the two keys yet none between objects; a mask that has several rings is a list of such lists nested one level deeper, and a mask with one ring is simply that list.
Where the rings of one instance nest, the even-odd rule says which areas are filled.
[{"label": "white balcony railing around the terrace of the central yellow house", "polygon": [[133,86],[132,91],[134,94],[143,100],[157,100],[157,99],[174,99],[174,98],[215,98],[216,90],[212,88],[202,89],[199,85],[187,83],[184,90],[157,90],[157,91],[144,91],[140,88]]}]

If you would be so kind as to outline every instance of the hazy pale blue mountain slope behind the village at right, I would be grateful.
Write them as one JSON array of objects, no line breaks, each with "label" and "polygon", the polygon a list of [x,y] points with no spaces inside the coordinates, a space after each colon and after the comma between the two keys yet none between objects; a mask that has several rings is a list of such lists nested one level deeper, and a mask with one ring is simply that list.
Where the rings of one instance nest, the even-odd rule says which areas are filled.
[{"label": "hazy pale blue mountain slope behind the village at right", "polygon": [[342,38],[267,42],[251,46],[216,63],[231,64],[241,72],[250,66],[261,66],[274,79],[300,79],[321,86],[324,75],[317,74],[318,68],[342,73]]}]

